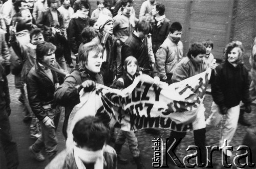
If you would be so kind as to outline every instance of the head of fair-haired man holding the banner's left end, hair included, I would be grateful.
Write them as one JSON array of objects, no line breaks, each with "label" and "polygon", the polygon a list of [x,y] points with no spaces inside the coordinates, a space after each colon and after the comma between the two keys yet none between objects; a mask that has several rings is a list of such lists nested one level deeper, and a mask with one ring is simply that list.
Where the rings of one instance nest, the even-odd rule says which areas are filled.
[{"label": "head of fair-haired man holding the banner's left end, hair included", "polygon": [[80,68],[87,69],[92,73],[97,74],[100,72],[102,57],[102,45],[95,42],[89,42],[82,46],[78,57],[78,63]]}]

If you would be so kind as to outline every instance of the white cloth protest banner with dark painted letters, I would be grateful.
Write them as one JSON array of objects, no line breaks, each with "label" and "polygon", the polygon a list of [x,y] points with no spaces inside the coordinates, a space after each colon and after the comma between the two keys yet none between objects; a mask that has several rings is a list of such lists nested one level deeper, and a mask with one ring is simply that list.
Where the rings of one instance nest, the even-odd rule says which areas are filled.
[{"label": "white cloth protest banner with dark painted letters", "polygon": [[164,128],[186,132],[198,129],[193,123],[198,118],[204,122],[202,103],[210,74],[211,69],[207,69],[169,86],[166,83],[156,86],[151,77],[141,75],[123,90],[103,85],[97,85],[90,93],[81,90],[81,102],[69,118],[68,137],[75,123],[87,115],[99,116],[105,124],[119,122],[122,130]]}]

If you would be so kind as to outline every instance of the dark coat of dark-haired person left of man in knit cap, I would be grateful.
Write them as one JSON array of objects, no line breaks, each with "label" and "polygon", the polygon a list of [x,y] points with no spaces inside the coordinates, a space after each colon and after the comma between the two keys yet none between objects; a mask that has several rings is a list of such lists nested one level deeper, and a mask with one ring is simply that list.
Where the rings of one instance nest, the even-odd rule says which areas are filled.
[{"label": "dark coat of dark-haired person left of man in knit cap", "polygon": [[67,30],[68,40],[70,43],[71,50],[74,54],[78,53],[78,47],[82,43],[82,30],[83,28],[89,26],[89,21],[89,17],[86,17],[85,19],[78,17],[72,18],[69,22],[69,28]]}]

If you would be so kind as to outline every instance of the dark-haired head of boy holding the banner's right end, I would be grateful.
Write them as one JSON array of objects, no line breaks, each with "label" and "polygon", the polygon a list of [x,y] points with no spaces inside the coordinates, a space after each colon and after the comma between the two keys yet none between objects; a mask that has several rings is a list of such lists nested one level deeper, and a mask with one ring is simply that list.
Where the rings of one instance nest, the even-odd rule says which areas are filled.
[{"label": "dark-haired head of boy holding the banner's right end", "polygon": [[196,64],[200,65],[204,61],[206,48],[202,43],[195,42],[189,46],[187,57],[193,60]]}]

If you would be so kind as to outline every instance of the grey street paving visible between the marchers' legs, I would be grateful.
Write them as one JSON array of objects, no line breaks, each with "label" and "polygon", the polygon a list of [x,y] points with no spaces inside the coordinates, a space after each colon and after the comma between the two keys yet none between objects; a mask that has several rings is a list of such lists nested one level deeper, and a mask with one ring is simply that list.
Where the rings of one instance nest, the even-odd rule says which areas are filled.
[{"label": "grey street paving visible between the marchers' legs", "polygon": [[[17,100],[20,92],[14,87],[13,75],[9,75],[8,80],[9,80],[9,90],[10,90],[11,108],[12,108],[12,113],[10,115],[10,122],[12,127],[12,134],[18,146],[19,161],[20,161],[19,168],[22,168],[22,169],[44,168],[47,165],[48,161],[37,162],[33,159],[32,155],[28,151],[29,146],[35,141],[35,139],[30,138],[29,125],[23,122],[22,109],[20,109],[20,103]],[[212,103],[211,96],[209,94],[206,94],[205,96],[206,117],[209,116],[211,103]],[[245,114],[245,117],[249,120],[249,122],[252,124],[253,127],[256,126],[254,106],[252,107],[252,113]],[[65,139],[63,138],[62,132],[61,132],[61,128],[63,124],[63,114],[61,115],[60,118],[61,119],[60,119],[60,123],[57,130],[57,137],[59,140],[59,145],[58,145],[59,152],[65,148]],[[223,120],[223,123],[224,123],[224,120]],[[221,127],[222,126],[220,125],[219,128],[213,129],[210,132],[206,133],[207,135],[206,141],[208,145],[211,145],[211,146],[218,145]],[[237,153],[235,150],[242,143],[242,139],[245,135],[245,129],[246,127],[239,125],[236,135],[234,136],[233,141],[231,142],[232,146],[234,147],[233,157]],[[146,165],[147,168],[153,168],[152,158],[154,156],[154,150],[152,149],[152,146],[153,146],[152,139],[154,139],[154,137],[159,137],[159,136],[154,136],[154,135],[145,133],[144,130],[136,132],[136,135],[138,137],[139,149],[141,151],[141,156],[144,164]],[[169,130],[161,131],[160,137],[163,138],[164,142],[166,137],[168,136],[169,136]],[[178,148],[179,149],[177,151],[178,156],[181,159],[183,159],[185,155],[192,154],[191,151],[186,152],[186,148],[189,145],[193,145],[193,144],[194,144],[193,132],[188,132],[186,137],[182,141],[181,146]],[[127,165],[119,165],[118,168],[124,168],[124,169],[136,168],[135,163],[132,161],[132,156],[129,151],[129,146],[127,145],[127,143],[125,143],[124,148],[122,149],[122,153],[125,158],[130,160],[130,162]],[[214,158],[217,160],[217,163],[221,165],[220,153],[215,153]],[[5,160],[4,160],[3,152],[2,150],[0,150],[0,168],[1,169],[6,169],[4,167],[4,161]],[[215,168],[219,168],[219,167],[216,166]]]}]

